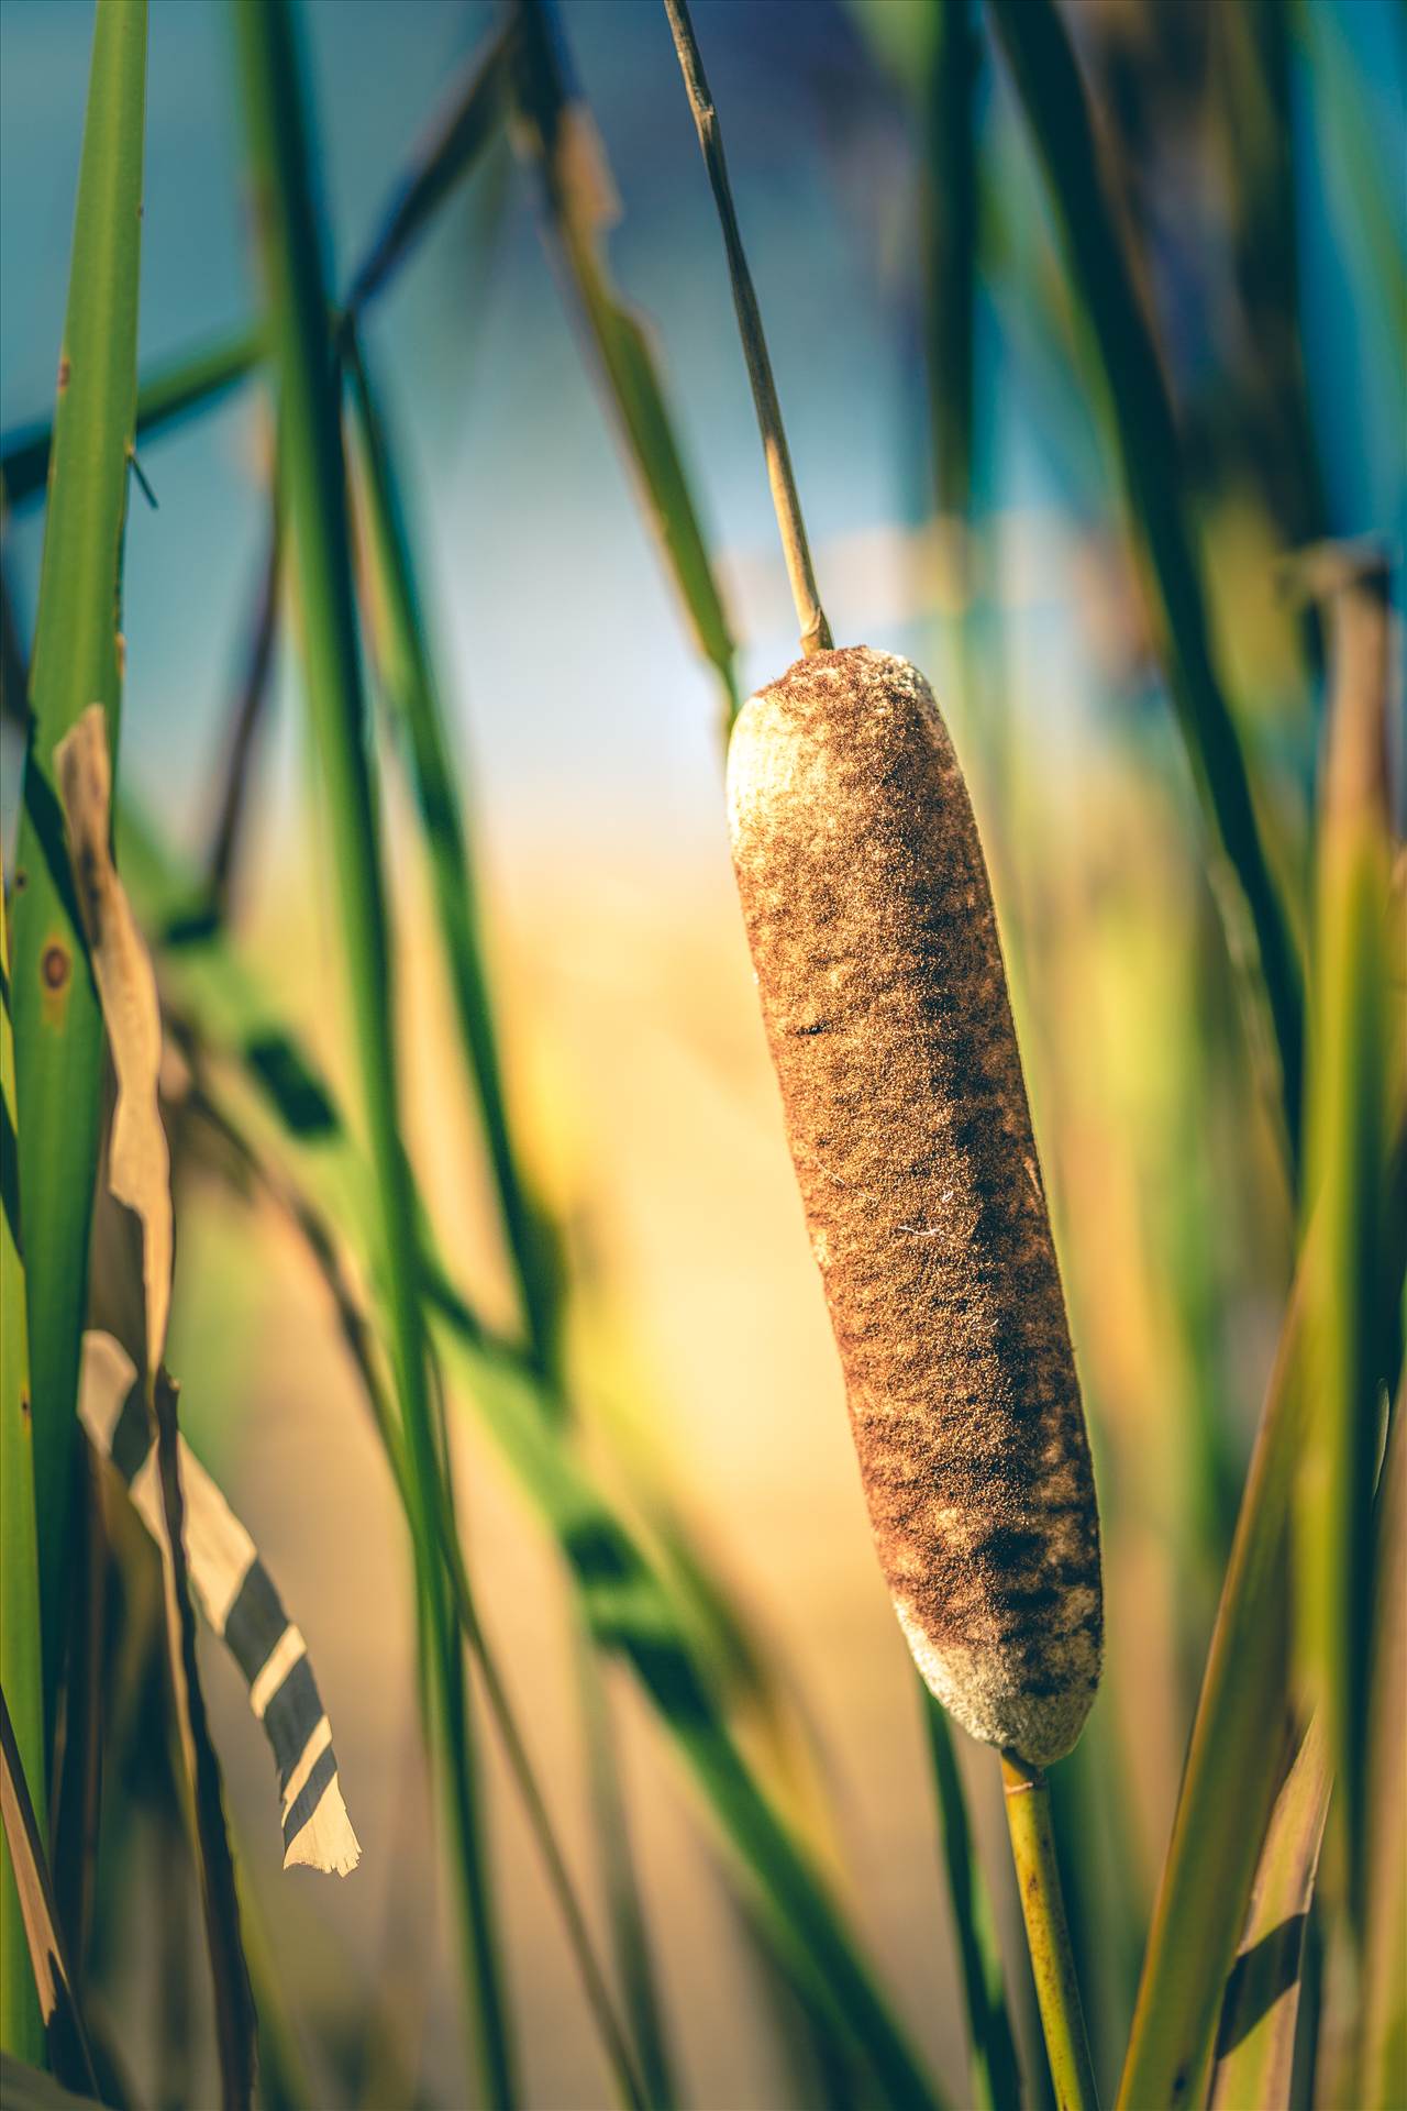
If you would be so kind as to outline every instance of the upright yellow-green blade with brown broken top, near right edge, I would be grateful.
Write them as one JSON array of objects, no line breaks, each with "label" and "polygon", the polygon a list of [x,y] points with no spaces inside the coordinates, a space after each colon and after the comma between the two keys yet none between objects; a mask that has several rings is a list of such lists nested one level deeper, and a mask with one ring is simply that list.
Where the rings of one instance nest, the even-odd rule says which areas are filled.
[{"label": "upright yellow-green blade with brown broken top, near right edge", "polygon": [[[1306,559],[1308,564],[1310,559]],[[1318,1245],[1308,1277],[1314,1412],[1295,1511],[1295,1647],[1325,1710],[1363,1932],[1367,1670],[1373,1628],[1373,1482],[1382,1446],[1377,1254],[1388,1155],[1388,686],[1390,581],[1382,559],[1325,549],[1333,692],[1316,847],[1314,1037],[1306,1108]],[[1388,1292],[1396,1294],[1396,1286]]]}]

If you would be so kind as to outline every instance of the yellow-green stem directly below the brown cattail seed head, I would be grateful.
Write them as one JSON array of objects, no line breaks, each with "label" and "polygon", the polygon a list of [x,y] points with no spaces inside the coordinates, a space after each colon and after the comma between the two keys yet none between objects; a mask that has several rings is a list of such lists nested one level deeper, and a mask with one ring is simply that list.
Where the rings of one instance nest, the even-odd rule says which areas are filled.
[{"label": "yellow-green stem directly below the brown cattail seed head", "polygon": [[1002,1792],[1055,2103],[1059,2111],[1097,2111],[1099,2094],[1055,1860],[1051,1790],[1040,1767],[1002,1752]]}]

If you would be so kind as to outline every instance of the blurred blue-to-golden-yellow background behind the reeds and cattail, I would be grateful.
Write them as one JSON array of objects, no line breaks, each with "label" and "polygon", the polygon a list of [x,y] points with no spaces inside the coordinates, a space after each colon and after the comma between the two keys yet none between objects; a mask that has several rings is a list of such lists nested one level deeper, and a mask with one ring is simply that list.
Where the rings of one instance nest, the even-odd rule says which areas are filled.
[{"label": "blurred blue-to-golden-yellow background behind the reeds and cattail", "polygon": [[[970,40],[966,196],[945,163],[939,15]],[[1150,633],[1091,319],[989,25],[951,0],[698,0],[694,17],[835,640],[926,667],[994,872],[1105,1522],[1107,1674],[1059,1796],[1082,1843],[1069,1881],[1107,2071],[1293,1212]],[[1325,536],[1401,551],[1407,528],[1405,17],[1394,0],[1080,0],[1065,19],[1158,325],[1272,861],[1297,901],[1323,640],[1283,595],[1278,564]],[[496,21],[470,0],[302,8],[338,289]],[[747,695],[795,657],[795,625],[667,21],[645,0],[567,0],[559,21],[614,175],[612,274],[660,357]],[[80,0],[0,6],[6,435],[51,407],[91,27]],[[152,0],[141,369],[255,310],[226,15]],[[958,2075],[922,1714],[869,1547],[751,990],[719,684],[584,357],[529,158],[489,148],[365,331],[473,787],[515,1127],[565,1239],[582,1442],[624,1501],[681,1518],[726,1579],[787,1695],[791,1807],[915,2039]],[[262,386],[139,452],[158,507],[133,494],[122,781],[203,859],[268,568]],[[4,568],[21,635],[40,540],[42,505],[15,507]],[[2,754],[8,844],[11,722]],[[293,627],[281,623],[234,920],[283,1013],[354,1098],[308,777]],[[394,771],[386,813],[407,1134],[456,1279],[506,1328],[513,1283]],[[460,1967],[394,1492],[335,1313],[278,1214],[194,1155],[177,1241],[169,1359],[184,1425],[308,1636],[363,1841],[344,1883],[281,1875],[266,1748],[238,1676],[209,1649],[259,1940],[319,2103],[458,2105]],[[473,1402],[451,1429],[485,1623],[595,1896],[561,1566]],[[818,2100],[789,2069],[795,2018],[787,2031],[673,1752],[624,1678],[610,1701],[681,2094]],[[970,1746],[962,1761],[1010,1936],[996,1771]],[[485,1765],[523,2092],[595,2105],[608,2079],[492,1739]],[[139,1784],[124,1794],[105,1845],[95,2005],[120,2022],[152,2100],[207,2100],[194,1881],[179,1853],[150,1851],[143,1828],[160,1839],[167,1820]],[[1006,1948],[1015,1974],[1019,1944]]]}]

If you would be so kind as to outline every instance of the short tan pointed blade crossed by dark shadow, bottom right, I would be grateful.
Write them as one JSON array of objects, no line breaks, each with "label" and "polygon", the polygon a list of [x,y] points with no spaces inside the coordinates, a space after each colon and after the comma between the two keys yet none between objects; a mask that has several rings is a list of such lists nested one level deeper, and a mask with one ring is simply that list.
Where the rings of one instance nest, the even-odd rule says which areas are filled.
[{"label": "short tan pointed blade crossed by dark shadow, bottom right", "polygon": [[1289,2111],[1299,1961],[1329,1815],[1329,1752],[1310,1723],[1274,1807],[1240,1953],[1221,1999],[1209,2111]]}]

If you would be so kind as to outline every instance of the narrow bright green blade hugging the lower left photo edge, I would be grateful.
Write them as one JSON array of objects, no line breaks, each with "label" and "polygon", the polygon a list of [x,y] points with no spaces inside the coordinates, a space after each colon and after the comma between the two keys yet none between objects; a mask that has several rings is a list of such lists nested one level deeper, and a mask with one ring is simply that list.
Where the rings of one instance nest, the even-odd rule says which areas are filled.
[{"label": "narrow bright green blade hugging the lower left photo edge", "polygon": [[[0,908],[0,1687],[13,1708],[15,1746],[44,1834],[44,1651],[34,1524],[30,1334],[19,1237],[15,1037],[11,956]],[[0,1839],[0,2046],[30,2065],[44,2058],[44,2024],[25,1953],[15,1872]]]}]

